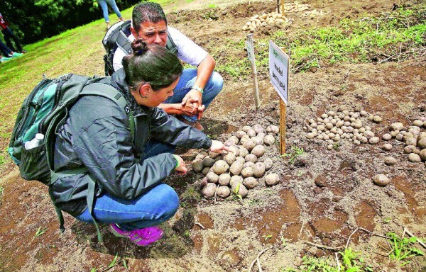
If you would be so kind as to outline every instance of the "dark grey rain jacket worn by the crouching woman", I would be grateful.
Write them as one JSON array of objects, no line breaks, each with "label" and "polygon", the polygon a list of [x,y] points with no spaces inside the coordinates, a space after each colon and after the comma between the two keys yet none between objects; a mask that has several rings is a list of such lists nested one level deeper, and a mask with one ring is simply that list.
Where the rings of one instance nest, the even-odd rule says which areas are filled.
[{"label": "dark grey rain jacket worn by the crouching woman", "polygon": [[[170,153],[140,160],[150,139],[189,148],[207,149],[212,145],[200,130],[160,108],[138,105],[124,82],[123,69],[102,83],[114,86],[128,99],[135,115],[135,140],[131,139],[126,113],[116,103],[101,96],[83,96],[60,126],[54,152],[54,170],[85,166],[97,181],[97,196],[107,191],[131,200],[173,173],[176,159]],[[57,179],[50,186],[55,205],[71,215],[80,215],[87,208],[88,182],[88,174]]]}]

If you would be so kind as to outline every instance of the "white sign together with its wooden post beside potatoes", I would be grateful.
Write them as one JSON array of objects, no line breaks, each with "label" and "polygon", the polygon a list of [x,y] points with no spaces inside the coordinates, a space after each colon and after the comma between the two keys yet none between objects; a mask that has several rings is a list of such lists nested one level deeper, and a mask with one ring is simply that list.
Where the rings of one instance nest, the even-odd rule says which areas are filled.
[{"label": "white sign together with its wooden post beside potatoes", "polygon": [[285,111],[288,106],[288,72],[290,57],[280,47],[269,41],[269,76],[280,96],[280,154],[285,153]]}]

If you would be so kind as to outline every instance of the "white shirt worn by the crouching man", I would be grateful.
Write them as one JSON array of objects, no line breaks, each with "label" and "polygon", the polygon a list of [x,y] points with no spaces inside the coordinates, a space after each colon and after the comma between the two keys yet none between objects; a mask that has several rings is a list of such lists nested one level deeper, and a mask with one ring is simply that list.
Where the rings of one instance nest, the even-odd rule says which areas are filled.
[{"label": "white shirt worn by the crouching man", "polygon": [[[176,47],[178,47],[178,58],[183,62],[197,67],[207,57],[207,51],[202,49],[202,47],[197,45],[195,42],[192,42],[190,38],[187,38],[187,36],[185,36],[176,28],[168,27],[168,33],[170,34],[170,37],[172,37]],[[129,42],[133,42],[135,37],[131,34],[127,39]],[[114,59],[112,60],[114,71],[123,67],[121,61],[123,60],[124,56],[126,56],[126,52],[121,50],[121,48],[117,48],[116,52],[114,53]]]}]

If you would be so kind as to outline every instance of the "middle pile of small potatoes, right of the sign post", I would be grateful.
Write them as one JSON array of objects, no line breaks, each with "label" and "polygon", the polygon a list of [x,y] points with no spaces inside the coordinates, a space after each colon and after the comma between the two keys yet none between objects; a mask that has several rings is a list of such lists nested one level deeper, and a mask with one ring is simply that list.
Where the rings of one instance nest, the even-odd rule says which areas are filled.
[{"label": "middle pile of small potatoes, right of the sign post", "polygon": [[381,123],[382,118],[378,115],[368,115],[366,111],[327,111],[317,120],[308,120],[306,137],[308,139],[326,141],[328,149],[333,148],[333,142],[349,140],[354,145],[371,144],[376,145],[380,138],[371,131],[371,127],[364,125],[361,118],[366,118],[375,123]]}]

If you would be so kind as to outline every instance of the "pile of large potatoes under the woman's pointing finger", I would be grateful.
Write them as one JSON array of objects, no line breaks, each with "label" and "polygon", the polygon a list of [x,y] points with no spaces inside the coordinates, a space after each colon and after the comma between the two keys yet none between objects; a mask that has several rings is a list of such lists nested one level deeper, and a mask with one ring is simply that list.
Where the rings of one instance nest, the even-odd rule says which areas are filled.
[{"label": "pile of large potatoes under the woman's pointing finger", "polygon": [[201,152],[192,162],[192,169],[202,173],[204,198],[212,198],[217,194],[227,198],[231,191],[246,197],[248,189],[258,186],[258,179],[264,176],[267,186],[278,183],[278,174],[266,174],[272,169],[273,161],[265,158],[265,146],[275,143],[275,135],[279,128],[270,125],[264,130],[261,125],[244,126],[224,142],[230,152],[218,154]]}]

